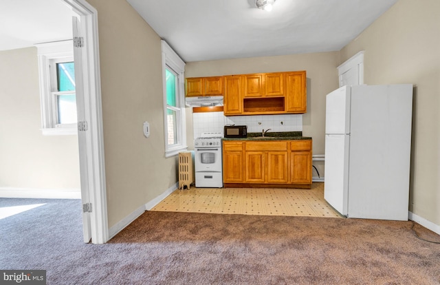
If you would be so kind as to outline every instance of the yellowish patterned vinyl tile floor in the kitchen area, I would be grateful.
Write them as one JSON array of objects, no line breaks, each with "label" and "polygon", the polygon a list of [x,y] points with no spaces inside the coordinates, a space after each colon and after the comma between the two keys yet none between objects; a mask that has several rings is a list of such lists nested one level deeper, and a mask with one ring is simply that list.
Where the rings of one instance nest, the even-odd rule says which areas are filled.
[{"label": "yellowish patterned vinyl tile floor in the kitchen area", "polygon": [[311,189],[191,186],[175,190],[151,211],[342,218],[324,200],[324,182]]}]

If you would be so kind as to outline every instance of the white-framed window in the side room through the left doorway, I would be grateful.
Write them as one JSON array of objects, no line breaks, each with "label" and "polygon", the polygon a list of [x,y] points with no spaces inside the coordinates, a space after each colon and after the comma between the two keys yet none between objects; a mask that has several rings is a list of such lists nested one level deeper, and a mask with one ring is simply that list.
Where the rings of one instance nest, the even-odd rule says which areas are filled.
[{"label": "white-framed window in the side room through the left doorway", "polygon": [[77,134],[75,63],[72,41],[36,45],[39,56],[41,130]]}]

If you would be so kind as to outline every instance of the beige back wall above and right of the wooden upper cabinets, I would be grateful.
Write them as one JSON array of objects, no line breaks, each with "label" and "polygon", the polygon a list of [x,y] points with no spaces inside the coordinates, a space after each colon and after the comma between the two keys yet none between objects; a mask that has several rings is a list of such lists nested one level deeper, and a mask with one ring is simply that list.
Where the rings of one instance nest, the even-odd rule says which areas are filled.
[{"label": "beige back wall above and right of the wooden upper cabinets", "polygon": [[[307,113],[303,115],[303,136],[313,138],[314,154],[325,152],[325,96],[338,88],[339,52],[267,56],[249,59],[198,61],[186,63],[185,76],[219,76],[257,72],[307,72]],[[190,114],[188,108],[187,114]],[[189,116],[189,115],[188,115]],[[193,139],[191,118],[187,119],[188,144]],[[324,175],[322,162],[314,165]],[[316,173],[314,173],[316,176]]]}]

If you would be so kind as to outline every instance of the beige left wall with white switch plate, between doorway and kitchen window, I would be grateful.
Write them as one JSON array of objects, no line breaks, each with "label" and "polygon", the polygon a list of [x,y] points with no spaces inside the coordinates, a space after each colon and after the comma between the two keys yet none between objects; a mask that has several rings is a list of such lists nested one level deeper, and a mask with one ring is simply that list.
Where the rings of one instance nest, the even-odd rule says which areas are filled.
[{"label": "beige left wall with white switch plate, between doorway and kitchen window", "polygon": [[177,182],[177,156],[164,157],[161,39],[125,0],[88,2],[98,10],[111,227]]}]

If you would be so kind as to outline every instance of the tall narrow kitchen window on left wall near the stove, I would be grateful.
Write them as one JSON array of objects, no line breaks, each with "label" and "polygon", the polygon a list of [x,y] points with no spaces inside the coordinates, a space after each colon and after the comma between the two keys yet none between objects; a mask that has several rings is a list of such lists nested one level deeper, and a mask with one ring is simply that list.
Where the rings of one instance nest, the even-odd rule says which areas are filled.
[{"label": "tall narrow kitchen window on left wall near the stove", "polygon": [[185,63],[165,41],[162,41],[162,67],[165,156],[169,157],[187,149],[184,107]]}]

